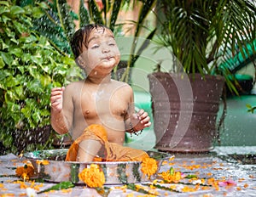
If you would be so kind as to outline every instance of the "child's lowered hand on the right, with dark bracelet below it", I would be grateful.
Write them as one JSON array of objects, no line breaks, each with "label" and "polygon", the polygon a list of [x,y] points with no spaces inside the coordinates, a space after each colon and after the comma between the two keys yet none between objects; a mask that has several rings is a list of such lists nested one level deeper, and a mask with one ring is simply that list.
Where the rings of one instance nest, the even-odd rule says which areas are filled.
[{"label": "child's lowered hand on the right, with dark bracelet below it", "polygon": [[150,117],[144,110],[139,110],[137,114],[133,114],[131,117],[131,123],[136,131],[141,131],[145,127],[150,127]]}]

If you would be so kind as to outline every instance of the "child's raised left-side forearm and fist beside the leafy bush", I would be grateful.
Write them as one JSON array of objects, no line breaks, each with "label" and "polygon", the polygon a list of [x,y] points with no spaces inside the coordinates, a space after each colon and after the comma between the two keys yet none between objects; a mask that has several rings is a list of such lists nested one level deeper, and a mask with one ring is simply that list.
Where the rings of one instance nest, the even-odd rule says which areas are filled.
[{"label": "child's raised left-side forearm and fist beside the leafy bush", "polygon": [[63,93],[65,87],[55,87],[50,94],[50,123],[55,132],[65,134],[68,132],[69,126],[67,118],[63,110]]}]

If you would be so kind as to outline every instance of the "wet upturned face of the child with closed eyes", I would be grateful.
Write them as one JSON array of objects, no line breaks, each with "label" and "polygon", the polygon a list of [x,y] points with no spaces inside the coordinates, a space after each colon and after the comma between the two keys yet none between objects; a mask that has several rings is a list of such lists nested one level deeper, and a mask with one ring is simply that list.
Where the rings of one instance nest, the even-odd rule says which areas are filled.
[{"label": "wet upturned face of the child with closed eyes", "polygon": [[113,32],[98,28],[90,32],[88,48],[82,54],[87,75],[108,74],[119,64],[119,48]]}]

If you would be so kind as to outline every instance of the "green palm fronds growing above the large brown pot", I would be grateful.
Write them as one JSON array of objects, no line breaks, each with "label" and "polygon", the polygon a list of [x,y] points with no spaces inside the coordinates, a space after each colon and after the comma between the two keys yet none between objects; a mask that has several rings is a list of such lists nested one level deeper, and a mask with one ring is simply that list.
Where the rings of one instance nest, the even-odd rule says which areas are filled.
[{"label": "green palm fronds growing above the large brown pot", "polygon": [[159,6],[165,18],[160,20],[160,43],[171,46],[183,70],[204,76],[216,69],[213,74],[223,75],[236,92],[230,70],[219,68],[218,63],[229,51],[235,54],[238,49],[244,59],[250,55],[248,47],[255,53],[255,4],[243,0],[163,0]]}]

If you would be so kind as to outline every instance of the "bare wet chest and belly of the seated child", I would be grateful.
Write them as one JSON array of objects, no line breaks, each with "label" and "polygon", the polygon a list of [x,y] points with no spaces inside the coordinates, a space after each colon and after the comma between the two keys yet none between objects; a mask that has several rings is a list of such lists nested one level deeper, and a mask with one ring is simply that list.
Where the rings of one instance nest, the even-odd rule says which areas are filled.
[{"label": "bare wet chest and belly of the seated child", "polygon": [[73,97],[73,138],[85,127],[100,124],[107,129],[109,142],[122,144],[125,138],[125,115],[131,95],[123,83],[110,82],[99,87],[85,84]]}]

